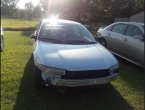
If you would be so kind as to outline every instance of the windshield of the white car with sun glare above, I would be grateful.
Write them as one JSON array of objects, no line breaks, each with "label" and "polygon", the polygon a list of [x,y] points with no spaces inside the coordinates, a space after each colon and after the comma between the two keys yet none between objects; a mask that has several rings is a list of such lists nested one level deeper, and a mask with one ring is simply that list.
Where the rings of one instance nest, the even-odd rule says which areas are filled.
[{"label": "windshield of the white car with sun glare above", "polygon": [[39,40],[56,44],[95,44],[96,40],[91,33],[80,24],[44,23],[41,27]]}]

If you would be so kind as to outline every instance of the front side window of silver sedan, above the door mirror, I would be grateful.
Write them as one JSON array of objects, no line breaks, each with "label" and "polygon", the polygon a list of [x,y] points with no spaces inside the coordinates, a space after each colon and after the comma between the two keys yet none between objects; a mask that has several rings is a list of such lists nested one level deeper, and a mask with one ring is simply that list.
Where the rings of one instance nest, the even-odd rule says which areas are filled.
[{"label": "front side window of silver sedan, above the door mirror", "polygon": [[129,25],[128,26],[128,29],[126,31],[126,35],[130,36],[130,37],[135,37],[137,35],[143,37],[142,31],[137,26],[134,26],[134,25]]}]

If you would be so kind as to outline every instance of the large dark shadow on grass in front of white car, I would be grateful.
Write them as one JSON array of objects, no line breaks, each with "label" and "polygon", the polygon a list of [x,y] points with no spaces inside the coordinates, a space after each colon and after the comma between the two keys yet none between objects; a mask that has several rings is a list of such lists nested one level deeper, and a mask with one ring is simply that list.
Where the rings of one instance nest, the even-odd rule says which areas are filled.
[{"label": "large dark shadow on grass in front of white car", "polygon": [[66,94],[34,87],[33,60],[30,57],[21,80],[13,110],[132,110],[110,84],[105,87],[73,89]]}]

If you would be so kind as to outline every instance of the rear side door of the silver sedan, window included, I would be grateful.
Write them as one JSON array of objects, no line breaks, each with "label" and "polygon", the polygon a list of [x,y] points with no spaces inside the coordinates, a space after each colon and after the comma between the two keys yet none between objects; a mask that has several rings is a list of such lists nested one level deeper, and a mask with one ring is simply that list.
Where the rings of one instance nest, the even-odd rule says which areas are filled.
[{"label": "rear side door of the silver sedan, window included", "polygon": [[108,47],[117,54],[124,54],[124,33],[127,28],[126,24],[115,24],[109,33]]}]

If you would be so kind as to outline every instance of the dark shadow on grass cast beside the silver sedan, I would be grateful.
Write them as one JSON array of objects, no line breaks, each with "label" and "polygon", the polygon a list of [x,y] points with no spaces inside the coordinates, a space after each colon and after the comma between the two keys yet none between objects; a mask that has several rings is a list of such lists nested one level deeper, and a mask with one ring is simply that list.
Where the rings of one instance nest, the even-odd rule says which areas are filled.
[{"label": "dark shadow on grass cast beside the silver sedan", "polygon": [[117,57],[120,63],[119,77],[137,91],[144,91],[144,68]]}]

